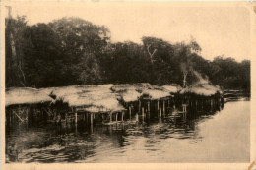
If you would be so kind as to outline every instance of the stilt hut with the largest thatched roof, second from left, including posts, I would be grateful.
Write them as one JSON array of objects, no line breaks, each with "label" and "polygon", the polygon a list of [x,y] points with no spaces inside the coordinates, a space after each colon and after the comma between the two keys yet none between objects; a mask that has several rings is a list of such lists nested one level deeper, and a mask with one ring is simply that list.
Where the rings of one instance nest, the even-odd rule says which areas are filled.
[{"label": "stilt hut with the largest thatched roof, second from left, including posts", "polygon": [[[117,100],[116,93],[110,90],[112,85],[72,85],[58,87],[53,90],[56,96],[56,102],[62,100],[67,103],[70,108],[69,114],[65,115],[65,120],[74,115],[75,123],[78,119],[84,119],[93,124],[96,117],[100,117],[102,121],[106,118],[108,122],[112,122],[112,116],[115,114],[115,120],[121,113],[121,120],[125,114],[125,108]],[[79,115],[79,117],[78,117]]]}]

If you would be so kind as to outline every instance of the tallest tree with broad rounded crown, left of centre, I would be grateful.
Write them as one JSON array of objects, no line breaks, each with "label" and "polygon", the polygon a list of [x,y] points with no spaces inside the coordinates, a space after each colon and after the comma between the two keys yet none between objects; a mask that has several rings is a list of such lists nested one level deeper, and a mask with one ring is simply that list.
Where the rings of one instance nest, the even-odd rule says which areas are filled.
[{"label": "tallest tree with broad rounded crown, left of centre", "polygon": [[[98,84],[101,82],[99,58],[107,46],[109,30],[79,18],[62,18],[49,26],[58,34],[68,67],[68,82]],[[92,64],[92,65],[89,65]],[[80,67],[78,67],[80,66]],[[84,79],[84,80],[83,80]]]}]

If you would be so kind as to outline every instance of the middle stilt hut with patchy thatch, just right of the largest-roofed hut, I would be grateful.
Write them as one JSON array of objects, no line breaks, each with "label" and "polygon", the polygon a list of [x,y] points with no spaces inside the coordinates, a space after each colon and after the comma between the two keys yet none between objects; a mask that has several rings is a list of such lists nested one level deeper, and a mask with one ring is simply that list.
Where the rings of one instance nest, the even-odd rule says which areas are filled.
[{"label": "middle stilt hut with patchy thatch, just right of the largest-roofed hut", "polygon": [[170,90],[147,83],[114,85],[111,90],[118,93],[121,102],[129,110],[130,118],[132,114],[136,114],[136,117],[138,114],[150,116],[151,112],[165,114],[166,101],[173,96]]}]

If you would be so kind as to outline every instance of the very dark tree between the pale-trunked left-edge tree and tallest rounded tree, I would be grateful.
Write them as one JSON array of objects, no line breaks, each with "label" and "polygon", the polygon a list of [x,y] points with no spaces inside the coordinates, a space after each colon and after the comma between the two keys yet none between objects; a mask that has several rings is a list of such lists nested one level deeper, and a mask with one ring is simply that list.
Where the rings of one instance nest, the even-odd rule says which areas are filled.
[{"label": "very dark tree between the pale-trunked left-edge tree and tallest rounded tree", "polygon": [[65,83],[63,51],[59,36],[46,24],[37,24],[24,31],[25,73],[28,85],[58,86]]}]

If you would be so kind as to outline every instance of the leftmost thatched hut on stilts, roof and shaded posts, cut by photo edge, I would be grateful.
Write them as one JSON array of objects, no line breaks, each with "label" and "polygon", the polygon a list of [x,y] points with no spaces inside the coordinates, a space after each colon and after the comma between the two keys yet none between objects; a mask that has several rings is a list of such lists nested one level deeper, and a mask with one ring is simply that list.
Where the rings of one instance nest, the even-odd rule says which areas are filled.
[{"label": "leftmost thatched hut on stilts, roof and shaded posts, cut by photo edge", "polygon": [[53,99],[48,95],[51,89],[29,87],[12,87],[5,92],[6,121],[8,125],[15,122],[36,122],[47,117],[47,110]]}]

